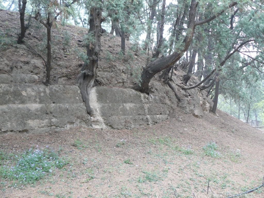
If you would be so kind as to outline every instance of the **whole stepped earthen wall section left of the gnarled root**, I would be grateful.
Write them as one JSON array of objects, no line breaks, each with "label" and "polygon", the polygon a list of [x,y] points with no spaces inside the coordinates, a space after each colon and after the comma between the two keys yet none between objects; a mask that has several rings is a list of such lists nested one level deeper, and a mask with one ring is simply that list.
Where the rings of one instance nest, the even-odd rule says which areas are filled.
[{"label": "whole stepped earthen wall section left of the gnarled root", "polygon": [[1,74],[0,79],[0,133],[40,133],[91,125],[77,86],[25,83],[35,77],[24,74]]}]

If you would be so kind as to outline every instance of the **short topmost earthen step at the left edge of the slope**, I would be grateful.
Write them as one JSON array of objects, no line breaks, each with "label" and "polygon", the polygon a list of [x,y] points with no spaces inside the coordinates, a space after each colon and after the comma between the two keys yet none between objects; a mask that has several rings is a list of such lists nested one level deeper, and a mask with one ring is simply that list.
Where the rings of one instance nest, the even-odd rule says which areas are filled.
[{"label": "short topmost earthen step at the left edge of the slope", "polygon": [[34,83],[38,78],[33,74],[0,74],[0,83]]}]

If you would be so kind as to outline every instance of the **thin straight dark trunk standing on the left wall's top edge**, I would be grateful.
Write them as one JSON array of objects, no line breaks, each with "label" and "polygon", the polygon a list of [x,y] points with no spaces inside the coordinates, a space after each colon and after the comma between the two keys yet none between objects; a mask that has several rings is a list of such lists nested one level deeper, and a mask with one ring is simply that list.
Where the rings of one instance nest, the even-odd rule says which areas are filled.
[{"label": "thin straight dark trunk standing on the left wall's top edge", "polygon": [[48,85],[50,83],[50,70],[51,70],[51,27],[52,23],[50,22],[50,15],[48,13],[48,20],[47,20],[47,67],[46,67],[46,82],[45,84]]}]

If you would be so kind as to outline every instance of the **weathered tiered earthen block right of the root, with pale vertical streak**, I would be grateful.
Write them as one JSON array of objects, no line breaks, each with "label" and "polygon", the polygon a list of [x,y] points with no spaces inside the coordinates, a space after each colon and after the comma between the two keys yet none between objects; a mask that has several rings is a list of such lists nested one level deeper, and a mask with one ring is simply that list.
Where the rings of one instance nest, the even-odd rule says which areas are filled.
[{"label": "weathered tiered earthen block right of the root, with pale vertical streak", "polygon": [[90,93],[93,128],[135,128],[166,120],[172,107],[150,103],[133,89],[93,87]]}]

